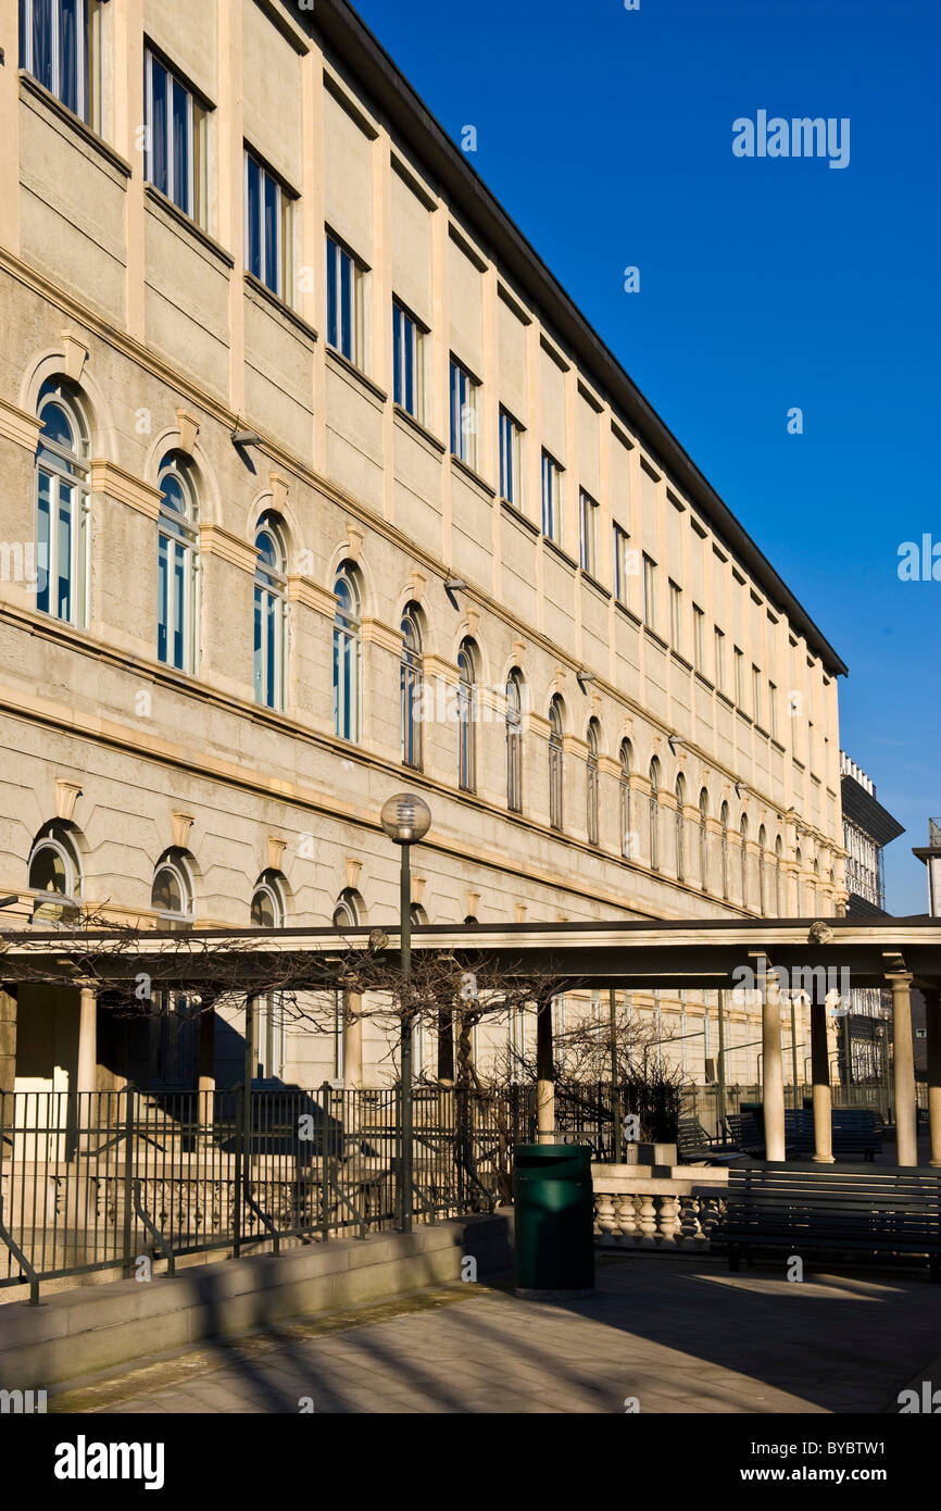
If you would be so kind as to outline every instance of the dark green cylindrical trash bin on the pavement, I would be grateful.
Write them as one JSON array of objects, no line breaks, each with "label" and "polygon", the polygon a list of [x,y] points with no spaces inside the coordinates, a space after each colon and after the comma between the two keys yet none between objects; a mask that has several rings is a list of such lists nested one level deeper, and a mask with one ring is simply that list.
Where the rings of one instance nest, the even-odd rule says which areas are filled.
[{"label": "dark green cylindrical trash bin on the pavement", "polygon": [[591,1157],[588,1144],[517,1145],[514,1165],[517,1295],[572,1298],[594,1292]]}]

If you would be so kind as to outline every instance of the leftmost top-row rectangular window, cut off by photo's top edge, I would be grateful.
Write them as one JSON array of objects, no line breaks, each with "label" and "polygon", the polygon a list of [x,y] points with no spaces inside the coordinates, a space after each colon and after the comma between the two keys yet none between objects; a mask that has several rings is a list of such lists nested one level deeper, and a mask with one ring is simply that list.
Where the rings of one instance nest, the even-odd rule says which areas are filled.
[{"label": "leftmost top-row rectangular window, cut off by photo's top edge", "polygon": [[20,0],[20,68],[100,130],[101,0]]}]

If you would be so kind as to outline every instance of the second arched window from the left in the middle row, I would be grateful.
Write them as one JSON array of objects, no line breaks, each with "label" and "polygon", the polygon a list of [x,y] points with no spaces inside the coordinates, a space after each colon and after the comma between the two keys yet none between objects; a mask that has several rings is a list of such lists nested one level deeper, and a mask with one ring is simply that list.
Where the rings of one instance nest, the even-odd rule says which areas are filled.
[{"label": "second arched window from the left in the middle row", "polygon": [[168,452],[157,480],[157,660],[177,671],[193,672],[199,511],[186,456]]}]

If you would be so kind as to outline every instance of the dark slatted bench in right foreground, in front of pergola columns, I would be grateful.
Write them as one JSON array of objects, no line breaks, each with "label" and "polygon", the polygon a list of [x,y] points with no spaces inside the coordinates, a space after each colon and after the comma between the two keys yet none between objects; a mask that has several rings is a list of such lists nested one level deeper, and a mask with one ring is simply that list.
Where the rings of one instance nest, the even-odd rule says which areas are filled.
[{"label": "dark slatted bench in right foreground, in front of pergola columns", "polygon": [[731,1170],[710,1247],[731,1269],[752,1251],[924,1256],[941,1280],[941,1176],[872,1165],[769,1163]]}]

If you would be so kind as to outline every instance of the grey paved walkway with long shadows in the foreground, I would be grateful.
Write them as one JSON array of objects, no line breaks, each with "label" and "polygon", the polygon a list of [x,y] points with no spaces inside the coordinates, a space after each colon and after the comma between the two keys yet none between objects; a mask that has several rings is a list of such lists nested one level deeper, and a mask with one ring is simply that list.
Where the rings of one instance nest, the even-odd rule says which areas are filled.
[{"label": "grey paved walkway with long shadows in the foreground", "polygon": [[[924,1274],[731,1275],[717,1260],[604,1256],[568,1306],[455,1284],[143,1361],[51,1411],[897,1411],[941,1352]],[[941,1386],[941,1375],[935,1381]]]}]

